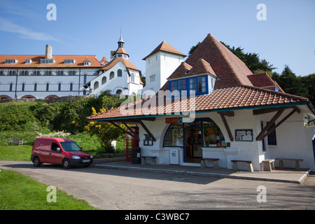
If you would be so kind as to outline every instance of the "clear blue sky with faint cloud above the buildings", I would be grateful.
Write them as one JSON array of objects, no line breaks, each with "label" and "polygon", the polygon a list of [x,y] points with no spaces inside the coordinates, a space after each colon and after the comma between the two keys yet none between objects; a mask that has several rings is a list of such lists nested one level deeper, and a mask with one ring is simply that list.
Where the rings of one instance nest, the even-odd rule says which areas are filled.
[{"label": "clear blue sky with faint cloud above the buildings", "polygon": [[[49,3],[57,20],[47,20]],[[267,20],[257,20],[259,3]],[[314,0],[0,0],[0,54],[97,55],[110,58],[123,29],[125,50],[143,73],[142,60],[162,41],[188,54],[212,34],[218,41],[256,52],[279,73],[315,73]]]}]

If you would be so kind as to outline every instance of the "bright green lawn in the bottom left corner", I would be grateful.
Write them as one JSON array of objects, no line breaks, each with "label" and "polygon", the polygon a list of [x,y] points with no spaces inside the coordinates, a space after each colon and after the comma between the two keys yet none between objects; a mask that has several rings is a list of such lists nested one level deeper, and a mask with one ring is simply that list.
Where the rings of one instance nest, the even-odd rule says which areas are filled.
[{"label": "bright green lawn in the bottom left corner", "polygon": [[[1,169],[0,210],[95,210],[84,200],[56,191],[56,202],[48,202],[48,185],[18,172]],[[47,200],[48,199],[48,200]]]}]

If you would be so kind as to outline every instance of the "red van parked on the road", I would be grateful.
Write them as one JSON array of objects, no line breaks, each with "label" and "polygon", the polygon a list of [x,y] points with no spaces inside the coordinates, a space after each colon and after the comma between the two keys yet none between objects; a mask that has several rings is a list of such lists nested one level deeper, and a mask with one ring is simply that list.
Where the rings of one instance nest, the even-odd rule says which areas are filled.
[{"label": "red van parked on the road", "polygon": [[69,169],[72,166],[88,167],[92,164],[93,157],[83,152],[71,139],[36,138],[31,150],[31,161],[35,167],[42,163],[52,163]]}]

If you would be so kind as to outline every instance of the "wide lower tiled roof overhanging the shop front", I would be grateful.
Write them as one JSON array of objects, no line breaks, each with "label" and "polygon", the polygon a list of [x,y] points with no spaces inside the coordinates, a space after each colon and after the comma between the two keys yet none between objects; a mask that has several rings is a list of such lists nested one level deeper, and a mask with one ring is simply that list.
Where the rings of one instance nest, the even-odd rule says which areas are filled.
[{"label": "wide lower tiled roof overhanging the shop front", "polygon": [[[99,119],[110,119],[110,118],[132,118],[134,116],[148,116],[146,111],[139,109],[145,104],[148,104],[148,100],[152,97],[146,99],[141,99],[131,105],[132,115],[123,115],[120,113],[120,107],[105,111],[104,113],[98,113],[94,116],[90,116],[87,120],[99,120]],[[166,106],[166,101],[162,108],[158,106],[158,100],[156,98],[156,106],[151,105],[150,108],[155,111],[158,116],[159,111],[164,111],[164,114],[171,112],[172,114],[176,112],[185,112],[190,110],[189,101],[183,100],[180,104],[176,104],[174,99],[172,100],[171,108]],[[235,109],[248,109],[253,107],[263,107],[263,106],[286,106],[286,104],[299,104],[307,103],[309,99],[304,97],[297,97],[295,95],[286,94],[282,92],[274,92],[271,90],[265,90],[259,87],[252,86],[239,86],[230,87],[225,89],[215,90],[212,94],[204,94],[195,97],[195,111],[224,111],[224,110],[235,110]],[[141,104],[141,106],[139,105]],[[187,110],[182,110],[181,105],[188,105]],[[127,109],[128,105],[125,105]],[[167,111],[171,109],[171,111]]]}]

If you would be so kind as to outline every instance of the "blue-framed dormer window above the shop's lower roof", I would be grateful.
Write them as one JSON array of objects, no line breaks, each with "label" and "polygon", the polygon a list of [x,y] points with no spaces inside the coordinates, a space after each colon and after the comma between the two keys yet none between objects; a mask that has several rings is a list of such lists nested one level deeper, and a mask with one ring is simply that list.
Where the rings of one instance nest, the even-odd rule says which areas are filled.
[{"label": "blue-framed dormer window above the shop's lower roof", "polygon": [[177,80],[169,81],[169,90],[173,92],[174,90],[188,90],[187,94],[189,94],[189,90],[195,90],[195,94],[208,94],[209,86],[208,86],[208,76],[197,76],[191,78],[181,78]]}]

